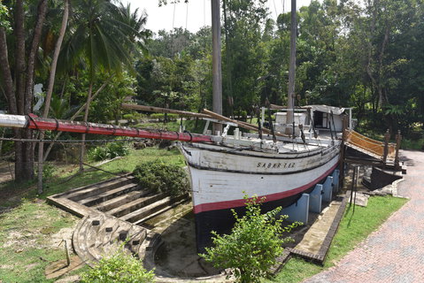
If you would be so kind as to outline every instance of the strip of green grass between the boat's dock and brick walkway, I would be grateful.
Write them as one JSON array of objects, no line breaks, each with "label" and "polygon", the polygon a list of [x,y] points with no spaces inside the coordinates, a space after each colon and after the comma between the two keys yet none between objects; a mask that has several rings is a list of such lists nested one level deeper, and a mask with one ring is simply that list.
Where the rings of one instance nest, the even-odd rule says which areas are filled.
[{"label": "strip of green grass between the boat's dock and brick walkway", "polygon": [[322,272],[337,263],[368,234],[375,231],[389,216],[400,209],[408,200],[392,196],[372,196],[366,207],[347,206],[342,222],[328,251],[324,266],[311,264],[304,259],[293,257],[282,271],[272,280],[265,282],[293,283]]}]

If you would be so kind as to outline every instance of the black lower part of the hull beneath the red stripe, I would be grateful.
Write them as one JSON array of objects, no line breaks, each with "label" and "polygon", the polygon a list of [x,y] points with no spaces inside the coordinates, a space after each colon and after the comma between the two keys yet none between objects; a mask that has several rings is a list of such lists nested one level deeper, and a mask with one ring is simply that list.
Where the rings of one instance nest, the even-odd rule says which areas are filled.
[{"label": "black lower part of the hull beneath the red stripe", "polygon": [[[330,176],[333,172],[328,174]],[[322,184],[326,178],[321,180],[317,184]],[[262,212],[266,212],[269,210],[274,210],[275,208],[281,206],[282,208],[286,208],[293,203],[296,203],[297,200],[302,196],[302,194],[309,194],[312,192],[313,188],[309,187],[305,189],[302,193],[297,195],[291,195],[289,197],[285,197],[281,200],[276,200],[272,202],[266,202],[261,204]],[[246,211],[245,207],[237,207],[234,208],[237,215],[243,215]],[[235,224],[235,218],[231,209],[225,210],[210,210],[203,211],[195,214],[195,222],[196,222],[196,240],[197,240],[197,253],[204,253],[204,248],[212,247],[212,233],[211,231],[215,231],[219,234],[231,233],[231,229]]]}]

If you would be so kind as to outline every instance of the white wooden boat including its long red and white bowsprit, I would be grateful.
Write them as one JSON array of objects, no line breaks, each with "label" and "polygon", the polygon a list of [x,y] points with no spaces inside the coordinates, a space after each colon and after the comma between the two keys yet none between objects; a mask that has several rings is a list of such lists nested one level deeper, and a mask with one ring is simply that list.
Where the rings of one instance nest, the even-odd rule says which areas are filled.
[{"label": "white wooden boat including its long red and white bowsprit", "polygon": [[334,137],[304,141],[281,134],[274,142],[238,128],[228,135],[229,126],[237,125],[225,123],[224,134],[211,135],[0,114],[0,126],[179,141],[189,167],[198,251],[211,244],[212,230],[230,231],[231,209],[243,212],[243,195],[265,197],[264,210],[286,207],[332,174],[339,160],[341,141]]}]

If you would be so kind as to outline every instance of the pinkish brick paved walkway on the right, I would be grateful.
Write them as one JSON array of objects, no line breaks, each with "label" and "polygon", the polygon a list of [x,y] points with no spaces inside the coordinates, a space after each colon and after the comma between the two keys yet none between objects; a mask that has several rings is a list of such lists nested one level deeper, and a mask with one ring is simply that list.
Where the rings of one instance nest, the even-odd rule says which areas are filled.
[{"label": "pinkish brick paved walkway on the right", "polygon": [[424,152],[402,151],[398,195],[411,198],[334,267],[305,283],[424,282]]}]

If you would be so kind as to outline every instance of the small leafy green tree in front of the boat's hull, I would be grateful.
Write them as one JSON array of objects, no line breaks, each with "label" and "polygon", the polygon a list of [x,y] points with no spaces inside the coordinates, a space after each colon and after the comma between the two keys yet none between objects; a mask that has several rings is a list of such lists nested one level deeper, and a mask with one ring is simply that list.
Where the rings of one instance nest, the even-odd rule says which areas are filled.
[{"label": "small leafy green tree in front of the boat's hull", "polygon": [[212,231],[214,247],[205,248],[206,253],[200,256],[216,268],[232,269],[238,282],[259,282],[276,264],[276,257],[283,251],[282,244],[293,241],[290,237],[283,237],[282,233],[301,223],[283,227],[281,222],[287,216],[279,216],[281,207],[261,214],[260,203],[265,197],[258,200],[256,195],[251,198],[244,195],[244,199],[246,214],[240,217],[232,210],[235,216],[232,232],[219,235]]}]

